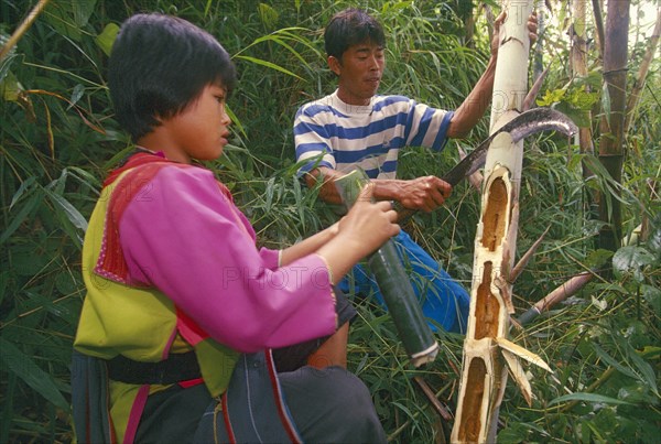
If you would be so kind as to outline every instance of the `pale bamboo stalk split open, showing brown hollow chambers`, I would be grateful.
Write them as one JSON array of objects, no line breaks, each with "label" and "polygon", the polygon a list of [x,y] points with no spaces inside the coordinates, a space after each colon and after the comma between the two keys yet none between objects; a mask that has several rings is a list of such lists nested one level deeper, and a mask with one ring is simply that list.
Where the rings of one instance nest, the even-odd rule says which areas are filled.
[{"label": "pale bamboo stalk split open, showing brown hollow chambers", "polygon": [[[507,18],[500,26],[491,133],[516,117],[523,106],[530,50],[527,21],[532,8],[532,0],[503,1]],[[517,360],[517,356],[528,353],[506,339],[512,311],[508,275],[517,243],[522,156],[523,141],[512,143],[507,132],[492,140],[487,153],[453,443],[496,442],[508,365],[516,367],[512,375],[530,399],[530,385],[521,379],[525,377]],[[501,351],[506,344],[508,349]]]}]

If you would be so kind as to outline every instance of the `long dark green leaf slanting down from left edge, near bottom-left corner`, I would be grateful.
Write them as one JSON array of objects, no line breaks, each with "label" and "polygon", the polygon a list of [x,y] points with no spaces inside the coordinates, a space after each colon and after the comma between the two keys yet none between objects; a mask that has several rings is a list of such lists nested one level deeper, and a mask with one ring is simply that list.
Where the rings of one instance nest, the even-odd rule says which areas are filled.
[{"label": "long dark green leaf slanting down from left edge, near bottom-left corner", "polygon": [[53,377],[34,364],[32,358],[1,337],[0,350],[2,350],[0,358],[12,372],[48,402],[67,412],[69,411],[69,403],[57,390]]}]

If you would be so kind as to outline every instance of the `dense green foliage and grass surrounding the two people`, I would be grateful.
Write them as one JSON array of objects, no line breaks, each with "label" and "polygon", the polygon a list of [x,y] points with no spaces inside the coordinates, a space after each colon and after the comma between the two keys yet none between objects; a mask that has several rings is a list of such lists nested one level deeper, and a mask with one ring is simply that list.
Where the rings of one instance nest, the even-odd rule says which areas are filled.
[{"label": "dense green foliage and grass surrounding the two people", "polygon": [[[2,2],[2,44],[35,3]],[[225,155],[208,166],[230,187],[260,242],[281,247],[337,218],[318,202],[317,189],[295,178],[291,126],[300,105],[335,88],[319,30],[334,12],[355,3],[51,0],[0,61],[0,442],[73,441],[68,366],[84,297],[82,238],[100,181],[132,150],[113,120],[105,82],[118,25],[138,11],[173,13],[210,31],[232,54],[240,76],[229,104],[235,131]],[[476,48],[464,46],[467,3],[360,2],[389,34],[382,93],[447,109],[462,102],[486,65],[489,42],[486,30],[478,29]],[[548,28],[548,36],[557,39],[546,42],[561,43],[546,47],[555,57],[538,102],[596,129],[599,107],[608,106],[602,73],[567,76],[563,32]],[[635,45],[629,73],[640,64],[643,43]],[[524,332],[512,331],[512,339],[544,357],[554,373],[529,369],[537,397],[531,408],[508,385],[500,442],[658,438],[659,61],[650,73],[627,138],[621,184],[597,158],[578,154],[566,140],[542,134],[527,141],[519,253],[550,230],[517,281],[517,311],[585,269],[608,262],[614,277],[594,279]],[[486,138],[487,121],[443,153],[403,151],[400,175],[441,175],[457,161],[455,145],[469,151]],[[588,180],[583,163],[594,172]],[[607,195],[624,204],[628,243],[615,253],[595,248],[600,226],[589,217],[594,189],[610,191]],[[479,212],[478,193],[460,184],[447,205],[415,215],[407,227],[466,288]],[[447,434],[452,424],[440,421],[413,377],[423,377],[453,411],[463,338],[437,333],[437,359],[412,370],[391,318],[369,300],[354,297],[359,318],[351,329],[349,367],[370,388],[391,440],[427,443]]]}]

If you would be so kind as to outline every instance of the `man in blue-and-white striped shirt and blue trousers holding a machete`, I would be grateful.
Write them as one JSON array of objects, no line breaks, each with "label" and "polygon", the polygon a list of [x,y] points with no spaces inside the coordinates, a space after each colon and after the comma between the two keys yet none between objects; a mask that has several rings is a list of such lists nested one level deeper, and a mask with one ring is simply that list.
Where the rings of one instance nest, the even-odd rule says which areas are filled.
[{"label": "man in blue-and-white striped shirt and blue trousers holding a machete", "polygon": [[[339,204],[334,180],[356,167],[375,185],[373,196],[405,208],[431,212],[443,205],[451,186],[429,175],[395,177],[399,150],[413,145],[441,151],[448,138],[465,137],[485,113],[491,98],[498,30],[495,23],[491,57],[485,73],[454,111],[435,109],[403,96],[378,96],[386,66],[386,36],[381,24],[358,9],[335,14],[324,32],[328,67],[337,76],[335,93],[303,105],[294,121],[296,160],[308,161],[301,172],[308,186],[321,182],[322,199]],[[531,40],[537,39],[537,17],[529,18]],[[469,296],[404,231],[395,238],[424,314],[445,331],[465,333]],[[382,303],[373,278],[355,268],[360,292],[373,292]],[[348,289],[345,280],[344,289]]]}]

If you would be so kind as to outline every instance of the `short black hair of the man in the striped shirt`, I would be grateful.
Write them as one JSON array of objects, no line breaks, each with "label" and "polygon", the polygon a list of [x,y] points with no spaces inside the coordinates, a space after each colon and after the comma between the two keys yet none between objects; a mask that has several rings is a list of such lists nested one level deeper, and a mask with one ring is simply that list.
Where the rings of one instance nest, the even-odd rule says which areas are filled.
[{"label": "short black hair of the man in the striped shirt", "polygon": [[359,9],[349,8],[336,13],[324,31],[326,54],[339,61],[349,46],[365,42],[384,46],[386,34],[377,19]]}]

